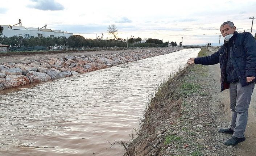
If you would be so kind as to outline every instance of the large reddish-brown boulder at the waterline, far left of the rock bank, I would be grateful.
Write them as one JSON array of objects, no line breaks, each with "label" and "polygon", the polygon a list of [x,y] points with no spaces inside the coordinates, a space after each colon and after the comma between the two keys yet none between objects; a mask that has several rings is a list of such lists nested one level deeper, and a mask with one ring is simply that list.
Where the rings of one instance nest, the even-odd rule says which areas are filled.
[{"label": "large reddish-brown boulder at the waterline, far left of the rock bank", "polygon": [[5,89],[29,84],[29,78],[24,75],[7,75],[5,80],[3,83]]}]

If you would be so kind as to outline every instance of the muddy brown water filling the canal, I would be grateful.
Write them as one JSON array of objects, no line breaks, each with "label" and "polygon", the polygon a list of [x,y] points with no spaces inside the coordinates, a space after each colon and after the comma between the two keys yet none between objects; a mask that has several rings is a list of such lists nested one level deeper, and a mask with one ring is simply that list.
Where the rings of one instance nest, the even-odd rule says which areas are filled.
[{"label": "muddy brown water filling the canal", "polygon": [[0,156],[115,156],[146,97],[200,49],[0,92]]}]

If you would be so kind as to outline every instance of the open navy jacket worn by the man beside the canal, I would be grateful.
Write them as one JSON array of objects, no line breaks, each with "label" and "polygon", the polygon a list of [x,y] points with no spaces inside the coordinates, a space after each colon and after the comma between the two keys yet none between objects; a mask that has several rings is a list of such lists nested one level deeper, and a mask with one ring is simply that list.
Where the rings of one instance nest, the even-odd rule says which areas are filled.
[{"label": "open navy jacket worn by the man beside the canal", "polygon": [[[246,77],[256,76],[256,40],[248,32],[238,33],[235,31],[234,35],[236,36],[235,39],[231,39],[230,42],[228,42],[228,44],[232,45],[229,50],[230,62],[235,69],[236,76],[241,86],[244,87],[256,81],[256,79],[254,79],[250,83],[246,82]],[[229,88],[229,83],[227,83],[226,80],[228,53],[225,53],[225,50],[227,51],[226,46],[222,46],[217,52],[214,52],[210,56],[195,58],[195,64],[212,65],[220,63],[221,92]]]}]

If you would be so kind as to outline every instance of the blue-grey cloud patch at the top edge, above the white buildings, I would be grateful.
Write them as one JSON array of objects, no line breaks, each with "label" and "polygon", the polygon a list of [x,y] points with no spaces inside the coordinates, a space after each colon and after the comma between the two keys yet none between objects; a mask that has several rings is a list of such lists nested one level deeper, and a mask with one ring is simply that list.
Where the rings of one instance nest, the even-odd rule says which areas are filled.
[{"label": "blue-grey cloud patch at the top edge, above the white buildings", "polygon": [[34,8],[38,10],[64,10],[63,5],[56,2],[55,0],[31,0],[35,4],[28,5],[29,8]]}]

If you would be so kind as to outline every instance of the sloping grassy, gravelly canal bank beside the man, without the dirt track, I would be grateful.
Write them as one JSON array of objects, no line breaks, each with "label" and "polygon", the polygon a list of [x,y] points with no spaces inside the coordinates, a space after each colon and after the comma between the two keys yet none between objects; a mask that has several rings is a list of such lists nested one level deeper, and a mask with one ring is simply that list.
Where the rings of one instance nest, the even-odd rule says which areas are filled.
[{"label": "sloping grassy, gravelly canal bank beside the man, without the dirt track", "polygon": [[[198,56],[210,54],[202,49]],[[208,66],[180,69],[156,88],[149,100],[138,137],[129,145],[131,156],[217,156],[232,153],[222,147],[212,112]],[[209,87],[211,86],[211,87]],[[216,112],[218,115],[218,112]],[[222,137],[223,138],[223,137]],[[222,149],[223,148],[223,149]],[[232,149],[234,151],[234,149]]]}]

